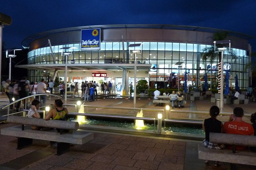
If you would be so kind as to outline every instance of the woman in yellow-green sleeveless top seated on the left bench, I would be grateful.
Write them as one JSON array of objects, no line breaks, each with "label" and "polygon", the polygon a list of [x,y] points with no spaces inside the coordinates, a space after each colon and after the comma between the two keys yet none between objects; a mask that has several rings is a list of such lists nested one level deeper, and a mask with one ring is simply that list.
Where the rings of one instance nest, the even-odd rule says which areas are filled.
[{"label": "woman in yellow-green sleeveless top seated on the left bench", "polygon": [[[64,108],[63,102],[60,99],[54,101],[54,108],[52,108],[45,117],[45,120],[52,118],[53,120],[68,120],[68,109]],[[66,129],[57,129],[58,132],[68,132]]]}]

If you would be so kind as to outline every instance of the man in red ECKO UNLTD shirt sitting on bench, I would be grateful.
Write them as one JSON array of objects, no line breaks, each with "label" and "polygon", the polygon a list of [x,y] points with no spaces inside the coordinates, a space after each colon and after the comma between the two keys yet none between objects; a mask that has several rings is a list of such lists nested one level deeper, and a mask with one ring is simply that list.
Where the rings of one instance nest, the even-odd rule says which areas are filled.
[{"label": "man in red ECKO UNLTD shirt sitting on bench", "polygon": [[[238,134],[238,135],[254,135],[254,128],[251,124],[242,120],[244,116],[244,110],[241,107],[236,107],[233,110],[234,114],[231,114],[229,121],[224,123],[223,130],[226,134]],[[228,148],[232,149],[231,146]],[[245,149],[244,146],[237,146],[236,149]]]}]

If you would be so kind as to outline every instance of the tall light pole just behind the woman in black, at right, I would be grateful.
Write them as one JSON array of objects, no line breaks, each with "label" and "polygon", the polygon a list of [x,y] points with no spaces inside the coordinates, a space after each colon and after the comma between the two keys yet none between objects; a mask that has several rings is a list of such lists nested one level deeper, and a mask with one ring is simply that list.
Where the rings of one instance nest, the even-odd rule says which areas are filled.
[{"label": "tall light pole just behind the woman in black, at right", "polygon": [[[224,51],[231,51],[231,41],[230,40],[224,40],[224,41],[214,41],[214,51],[216,50],[216,44],[229,44],[229,49],[226,47],[218,47],[218,51],[215,52],[221,52],[221,60],[220,60],[220,112],[223,111],[223,52]],[[228,50],[227,50],[228,49]]]}]

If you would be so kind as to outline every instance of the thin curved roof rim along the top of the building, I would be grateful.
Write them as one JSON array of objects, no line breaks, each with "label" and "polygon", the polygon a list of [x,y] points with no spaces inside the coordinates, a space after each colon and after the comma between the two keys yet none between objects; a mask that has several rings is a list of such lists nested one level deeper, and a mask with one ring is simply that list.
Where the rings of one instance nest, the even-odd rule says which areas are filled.
[{"label": "thin curved roof rim along the top of the building", "polygon": [[199,31],[199,32],[208,32],[208,33],[216,33],[216,32],[229,32],[230,35],[244,38],[244,39],[252,39],[256,38],[254,36],[248,34],[242,34],[239,32],[233,32],[229,30],[223,29],[215,29],[215,28],[207,28],[207,27],[195,27],[195,26],[180,26],[180,25],[165,25],[165,24],[118,24],[118,25],[98,25],[98,26],[82,26],[82,27],[71,27],[71,28],[62,28],[50,30],[38,34],[31,35],[25,38],[21,44],[24,48],[28,48],[30,43],[36,39],[43,38],[45,36],[57,33],[65,33],[65,32],[73,32],[81,29],[91,29],[91,28],[102,28],[102,29],[118,29],[118,28],[155,28],[155,29],[175,29],[175,30],[190,30],[190,31]]}]

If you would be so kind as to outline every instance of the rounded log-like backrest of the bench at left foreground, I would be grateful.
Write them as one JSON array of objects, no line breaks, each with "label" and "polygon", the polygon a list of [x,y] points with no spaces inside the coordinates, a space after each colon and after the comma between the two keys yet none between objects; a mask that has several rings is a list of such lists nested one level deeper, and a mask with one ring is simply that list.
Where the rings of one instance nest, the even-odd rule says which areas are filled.
[{"label": "rounded log-like backrest of the bench at left foreground", "polygon": [[7,122],[22,125],[32,125],[46,128],[58,128],[68,130],[78,130],[79,128],[79,123],[75,121],[45,120],[21,116],[9,116],[7,118]]}]

